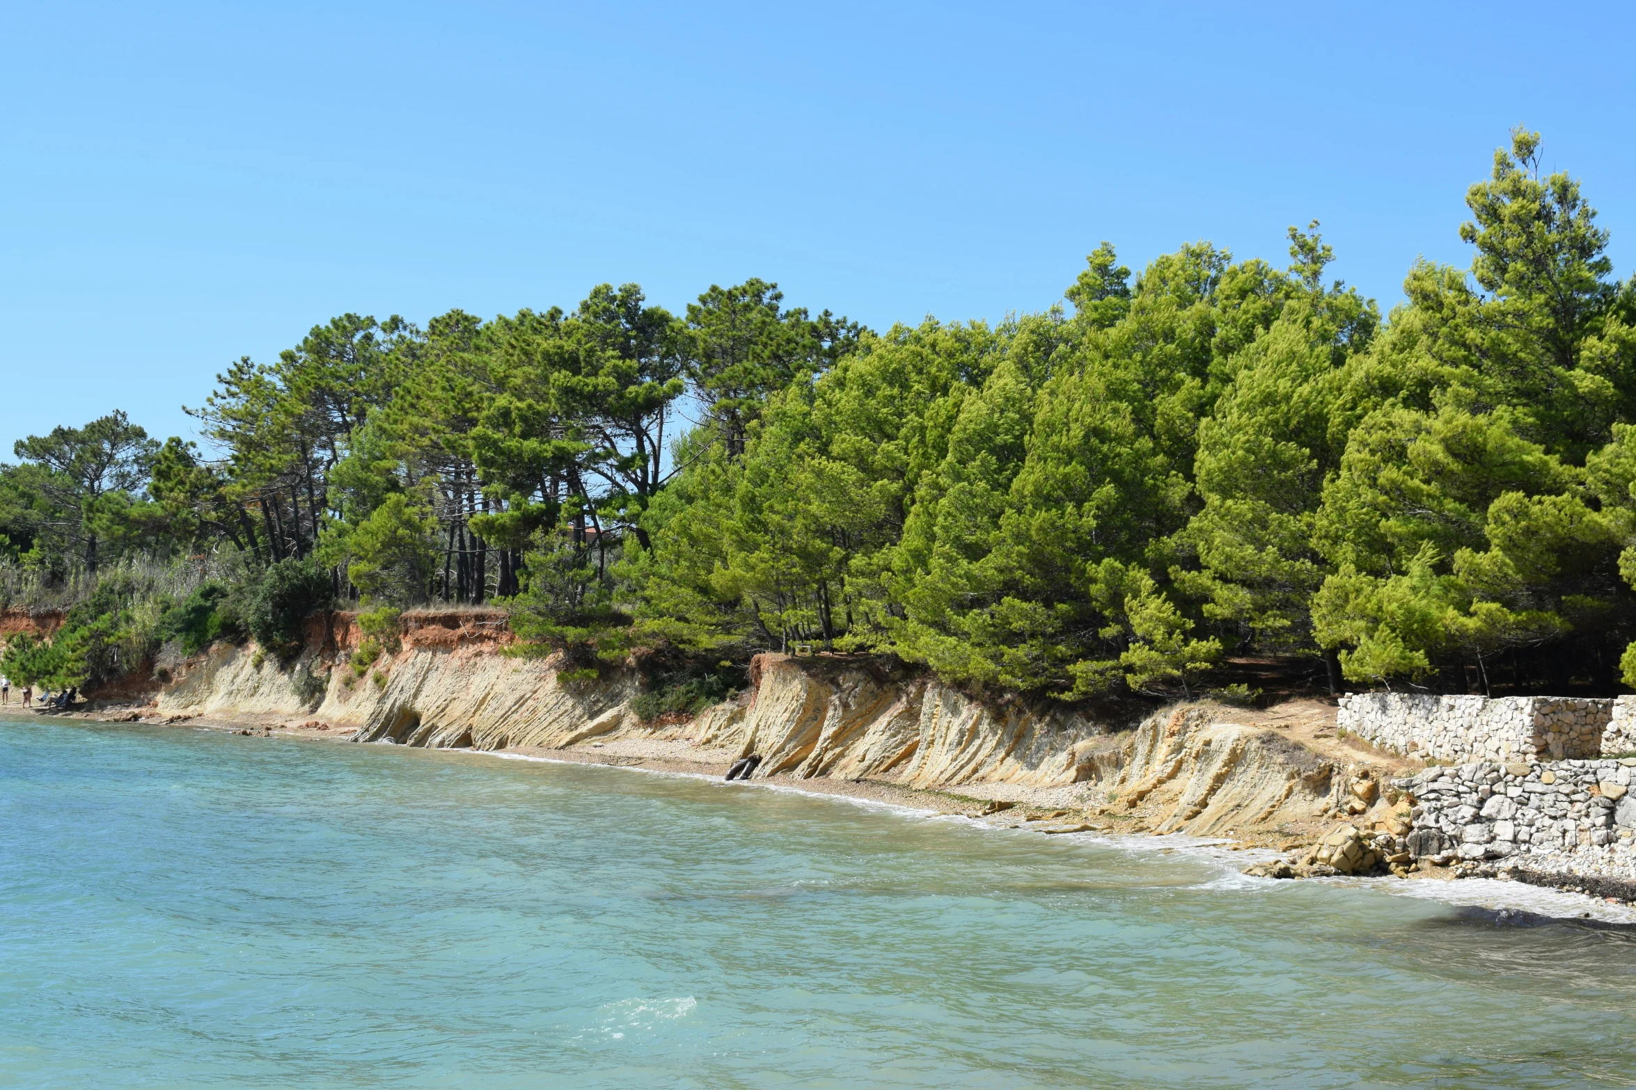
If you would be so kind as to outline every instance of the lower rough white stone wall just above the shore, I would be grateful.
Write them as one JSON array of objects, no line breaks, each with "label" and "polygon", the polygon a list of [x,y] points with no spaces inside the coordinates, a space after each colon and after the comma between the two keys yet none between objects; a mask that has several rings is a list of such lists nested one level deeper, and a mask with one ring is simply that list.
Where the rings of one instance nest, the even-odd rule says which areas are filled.
[{"label": "lower rough white stone wall just above the shore", "polygon": [[1546,873],[1636,878],[1636,758],[1433,766],[1394,780],[1414,806],[1407,848],[1436,863],[1512,860]]}]

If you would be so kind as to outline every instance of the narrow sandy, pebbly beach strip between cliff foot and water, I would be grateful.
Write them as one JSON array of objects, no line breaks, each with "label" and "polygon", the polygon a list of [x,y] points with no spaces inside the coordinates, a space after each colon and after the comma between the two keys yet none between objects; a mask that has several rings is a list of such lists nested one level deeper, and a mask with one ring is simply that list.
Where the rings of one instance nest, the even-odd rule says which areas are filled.
[{"label": "narrow sandy, pebbly beach strip between cliff foot and water", "polygon": [[[290,737],[314,742],[352,744],[353,730],[334,729],[316,721],[290,722],[275,716],[214,719],[208,716],[152,716],[139,709],[106,709],[80,713],[39,713],[3,708],[3,713],[29,711],[39,717],[105,724],[173,726],[252,737]],[[391,745],[391,744],[375,744]],[[569,748],[515,747],[506,750],[435,750],[497,760],[530,760],[568,765],[600,765],[631,771],[721,780],[736,758],[736,750],[702,750],[687,742],[663,739],[614,739],[587,742]],[[879,802],[928,817],[960,817],[995,830],[1027,830],[1058,833],[1070,840],[1108,843],[1124,850],[1153,853],[1204,853],[1238,869],[1242,863],[1276,858],[1288,850],[1281,837],[1199,838],[1180,833],[1150,833],[1140,817],[1111,814],[1088,784],[1067,788],[1019,788],[1016,784],[962,784],[957,789],[915,789],[870,780],[795,778],[789,775],[741,781],[744,788],[771,788],[810,796],[831,796],[861,802]],[[1245,882],[1276,879],[1234,874]],[[1378,889],[1387,894],[1423,897],[1451,905],[1502,914],[1530,914],[1553,918],[1580,918],[1600,923],[1636,927],[1636,907],[1610,904],[1600,897],[1572,894],[1515,881],[1461,879],[1449,873],[1412,873],[1399,878],[1317,878],[1301,879],[1325,884]]]}]

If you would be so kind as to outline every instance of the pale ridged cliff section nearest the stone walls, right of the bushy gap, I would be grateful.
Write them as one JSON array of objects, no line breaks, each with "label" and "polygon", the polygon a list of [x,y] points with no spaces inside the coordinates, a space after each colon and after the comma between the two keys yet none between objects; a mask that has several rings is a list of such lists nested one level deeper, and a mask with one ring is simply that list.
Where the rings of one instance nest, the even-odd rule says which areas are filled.
[{"label": "pale ridged cliff section nearest the stone walls, right of the bushy gap", "polygon": [[1278,732],[1175,708],[1135,729],[1060,706],[988,704],[954,686],[872,663],[762,657],[748,706],[718,708],[690,740],[736,742],[762,757],[756,776],[838,776],[906,788],[1060,788],[1086,783],[1155,832],[1217,833],[1346,809],[1366,765],[1324,760]]}]

